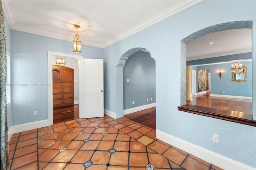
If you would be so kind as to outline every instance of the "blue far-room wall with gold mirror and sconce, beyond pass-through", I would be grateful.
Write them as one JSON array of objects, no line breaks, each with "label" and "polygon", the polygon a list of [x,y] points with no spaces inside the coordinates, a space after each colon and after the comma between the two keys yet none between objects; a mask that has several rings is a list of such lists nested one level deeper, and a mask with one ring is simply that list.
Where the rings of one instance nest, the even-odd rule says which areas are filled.
[{"label": "blue far-room wall with gold mirror and sconce, beyond pass-through", "polygon": [[[213,64],[225,61],[234,61],[240,59],[252,59],[252,53],[241,53],[234,55],[226,55],[221,57],[212,57],[207,59],[197,59],[187,61],[187,65],[193,65],[191,70],[196,70],[196,82],[197,71],[201,69],[211,70],[211,94],[214,95],[232,95],[232,96],[244,96],[252,97],[252,61],[242,61],[243,66],[247,67],[247,81],[236,82],[231,81],[231,65],[232,63]],[[211,64],[211,65],[202,65]],[[202,65],[202,66],[195,66]],[[217,71],[223,71],[221,79],[217,75]],[[223,94],[223,91],[225,93]],[[198,93],[198,84],[196,83],[196,93]]]}]

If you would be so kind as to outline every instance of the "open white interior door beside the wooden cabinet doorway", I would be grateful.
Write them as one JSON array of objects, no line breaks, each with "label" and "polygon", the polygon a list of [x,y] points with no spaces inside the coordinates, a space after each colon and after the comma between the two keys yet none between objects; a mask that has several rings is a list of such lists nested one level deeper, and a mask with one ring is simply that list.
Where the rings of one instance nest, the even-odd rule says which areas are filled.
[{"label": "open white interior door beside the wooden cabinet doorway", "polygon": [[79,118],[103,116],[103,59],[79,59]]}]

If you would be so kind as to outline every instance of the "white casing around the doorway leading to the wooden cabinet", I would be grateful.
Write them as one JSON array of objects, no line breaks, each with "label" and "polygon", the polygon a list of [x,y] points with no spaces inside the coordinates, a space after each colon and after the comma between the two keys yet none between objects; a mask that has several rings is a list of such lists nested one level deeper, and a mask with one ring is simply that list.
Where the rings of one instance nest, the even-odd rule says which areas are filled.
[{"label": "white casing around the doorway leading to the wooden cabinet", "polygon": [[[73,59],[82,59],[82,55],[58,53],[53,51],[48,51],[48,126],[53,124],[53,102],[52,102],[52,57],[65,57]],[[79,64],[78,64],[79,71]],[[78,72],[79,76],[79,72]],[[78,84],[79,88],[79,84]]]}]

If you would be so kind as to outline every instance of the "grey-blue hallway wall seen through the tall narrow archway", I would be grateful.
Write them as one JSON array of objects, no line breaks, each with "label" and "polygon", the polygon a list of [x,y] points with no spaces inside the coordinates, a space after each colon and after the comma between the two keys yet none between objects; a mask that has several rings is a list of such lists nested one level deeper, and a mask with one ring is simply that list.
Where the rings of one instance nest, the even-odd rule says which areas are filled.
[{"label": "grey-blue hallway wall seen through the tall narrow archway", "polygon": [[138,51],[124,66],[124,110],[151,103],[156,103],[156,61],[150,53]]}]

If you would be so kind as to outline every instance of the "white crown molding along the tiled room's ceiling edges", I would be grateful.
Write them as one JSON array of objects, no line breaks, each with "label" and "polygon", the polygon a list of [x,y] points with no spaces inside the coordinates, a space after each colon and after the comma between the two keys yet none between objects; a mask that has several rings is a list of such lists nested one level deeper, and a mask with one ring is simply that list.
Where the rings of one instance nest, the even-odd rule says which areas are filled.
[{"label": "white crown molding along the tiled room's ceiling edges", "polygon": [[[33,28],[19,26],[15,22],[13,10],[10,6],[9,1],[10,0],[4,0],[4,1],[2,1],[3,2],[2,4],[3,4],[4,13],[6,14],[8,23],[12,30],[18,30],[18,31],[22,31],[22,32],[32,33],[32,34],[38,34],[41,36],[57,38],[60,40],[71,41],[70,38],[65,37],[65,36],[57,36],[55,34],[51,34],[49,32],[45,32],[43,30],[34,30]],[[160,22],[161,20],[164,20],[165,18],[168,18],[169,16],[172,16],[190,6],[193,6],[194,4],[197,4],[198,2],[201,2],[201,1],[202,0],[182,0],[179,3],[177,3],[176,5],[171,6],[171,7],[167,8],[166,10],[163,10],[162,12],[156,14],[155,16],[152,16],[148,20],[145,20],[144,22],[126,30],[122,34],[119,34],[118,36],[112,38],[111,40],[109,40],[105,43],[100,44],[100,43],[86,42],[86,41],[83,41],[82,43],[85,45],[91,45],[91,46],[100,47],[100,48],[107,47],[108,45],[111,45],[113,43],[116,43],[116,42],[128,37],[128,36],[131,36],[132,34],[135,34],[136,32],[139,32],[140,30],[143,30],[144,28],[147,28],[157,22]]]}]

